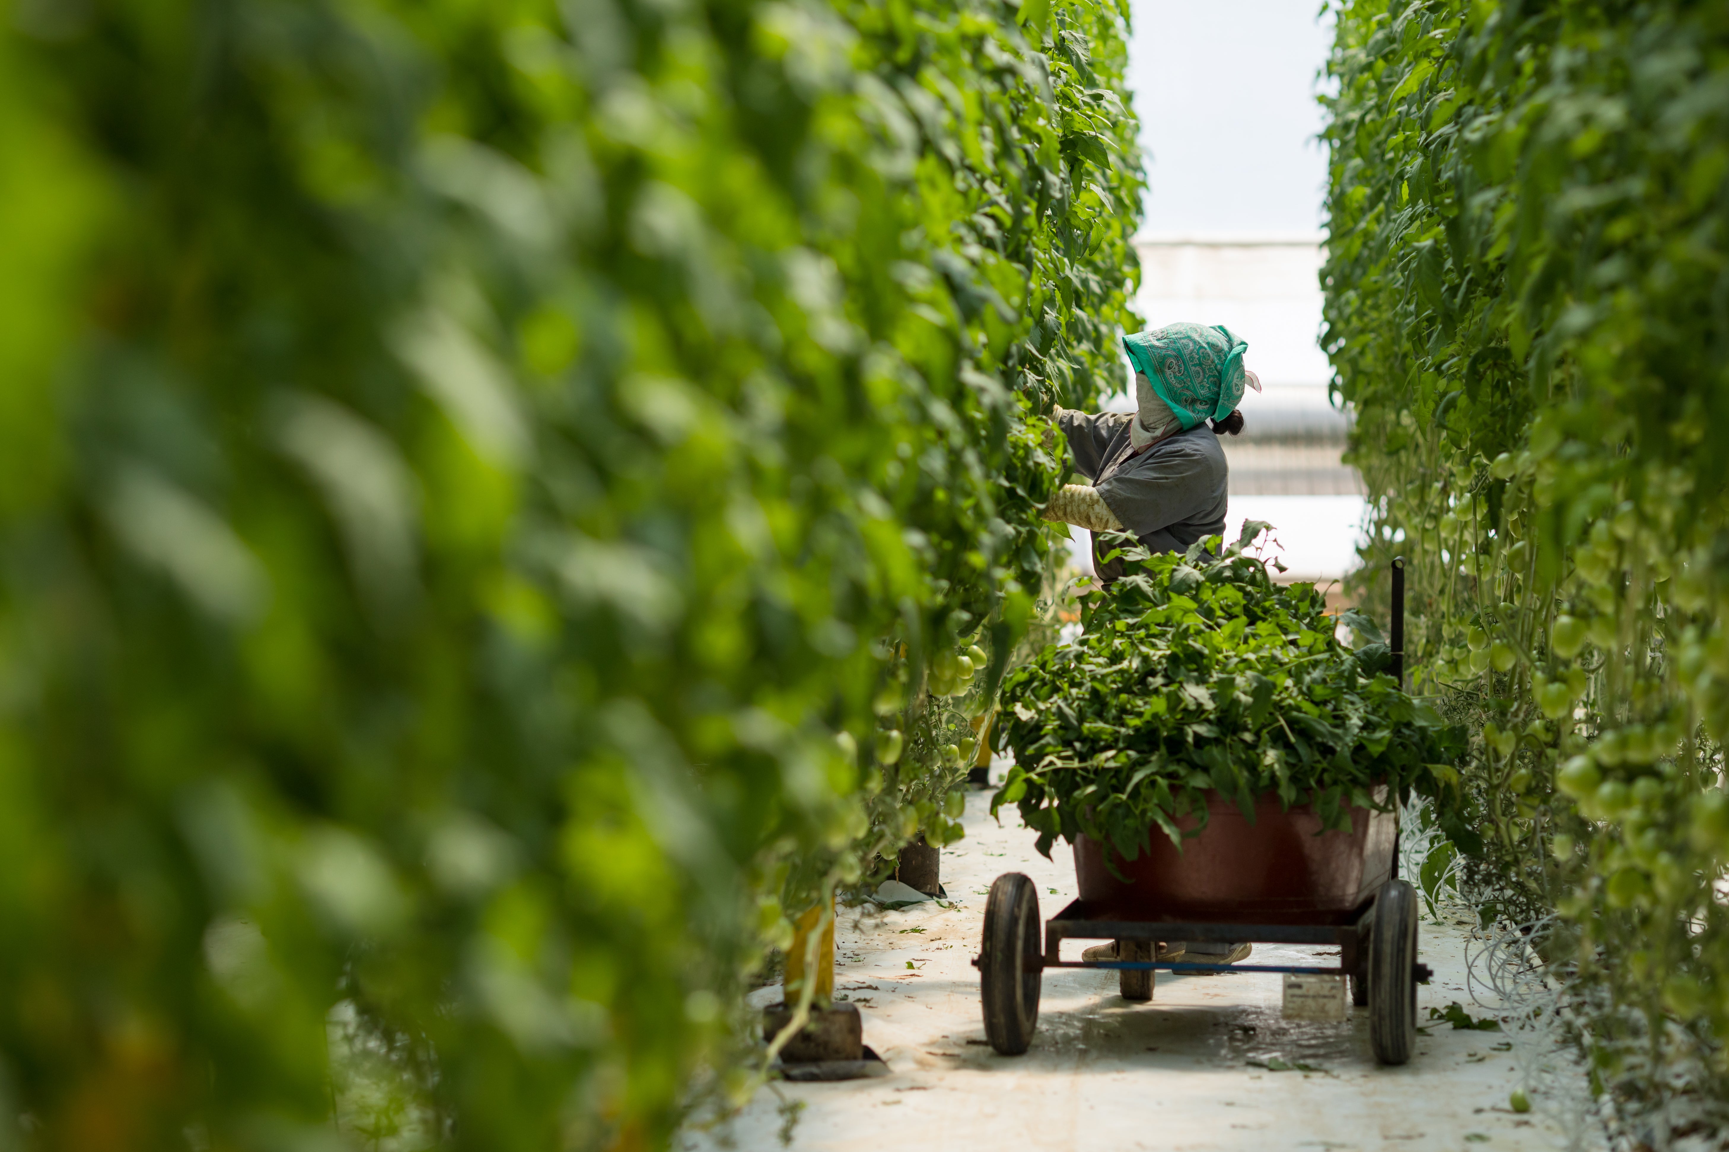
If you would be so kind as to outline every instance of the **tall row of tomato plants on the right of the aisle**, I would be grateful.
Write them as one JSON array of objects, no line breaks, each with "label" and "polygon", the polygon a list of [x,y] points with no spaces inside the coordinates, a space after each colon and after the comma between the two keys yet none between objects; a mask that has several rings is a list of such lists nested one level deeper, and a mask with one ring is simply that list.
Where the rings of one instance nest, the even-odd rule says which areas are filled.
[{"label": "tall row of tomato plants on the right of the aisle", "polygon": [[[1324,345],[1471,722],[1449,851],[1651,1147],[1729,1100],[1729,16],[1331,5]],[[1380,603],[1378,580],[1357,589]]]}]

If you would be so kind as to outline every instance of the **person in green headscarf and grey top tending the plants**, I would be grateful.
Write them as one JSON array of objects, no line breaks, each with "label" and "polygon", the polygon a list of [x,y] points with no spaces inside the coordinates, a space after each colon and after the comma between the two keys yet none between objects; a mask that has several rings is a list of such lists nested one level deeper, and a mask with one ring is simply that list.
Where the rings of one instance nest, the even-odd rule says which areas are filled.
[{"label": "person in green headscarf and grey top tending the plants", "polygon": [[[1224,326],[1167,325],[1124,337],[1134,366],[1136,411],[1055,411],[1075,468],[1091,484],[1067,484],[1044,518],[1089,532],[1132,532],[1155,553],[1183,551],[1224,532],[1229,466],[1219,437],[1243,430],[1236,404],[1260,380],[1243,366],[1248,345]],[[1122,561],[1093,565],[1101,580]]]}]

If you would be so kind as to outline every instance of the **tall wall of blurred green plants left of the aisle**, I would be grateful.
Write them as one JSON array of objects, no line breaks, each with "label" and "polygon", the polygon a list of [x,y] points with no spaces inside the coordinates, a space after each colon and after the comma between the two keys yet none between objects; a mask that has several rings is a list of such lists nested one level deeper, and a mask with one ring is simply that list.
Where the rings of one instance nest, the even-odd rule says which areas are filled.
[{"label": "tall wall of blurred green plants left of the aisle", "polygon": [[1124,10],[7,19],[0,1149],[724,1107],[788,914],[958,836],[1132,326]]}]

